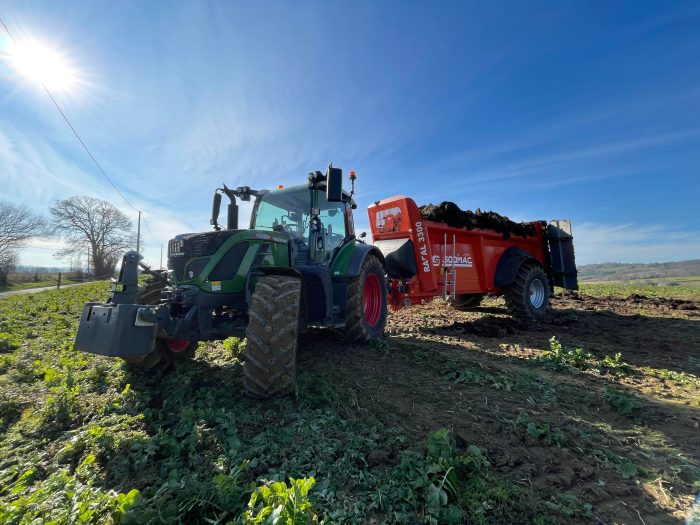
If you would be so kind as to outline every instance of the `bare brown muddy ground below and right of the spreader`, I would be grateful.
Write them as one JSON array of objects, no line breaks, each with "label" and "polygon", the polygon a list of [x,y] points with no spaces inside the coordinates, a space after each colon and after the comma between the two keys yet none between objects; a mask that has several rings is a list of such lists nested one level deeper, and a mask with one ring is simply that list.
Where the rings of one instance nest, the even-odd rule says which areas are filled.
[{"label": "bare brown muddy ground below and right of the spreader", "polygon": [[[309,342],[300,366],[417,441],[450,428],[507,479],[571,495],[590,509],[572,521],[684,522],[700,490],[700,301],[566,292],[531,326],[498,299],[436,301],[393,313],[388,334],[381,348]],[[553,336],[590,355],[557,362]]]}]

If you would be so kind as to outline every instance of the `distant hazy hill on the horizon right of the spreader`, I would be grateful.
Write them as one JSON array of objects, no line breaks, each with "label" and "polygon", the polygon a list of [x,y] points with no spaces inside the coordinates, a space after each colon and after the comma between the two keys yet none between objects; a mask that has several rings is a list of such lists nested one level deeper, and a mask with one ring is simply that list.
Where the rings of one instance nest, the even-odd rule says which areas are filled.
[{"label": "distant hazy hill on the horizon right of the spreader", "polygon": [[602,263],[578,267],[579,281],[639,281],[700,275],[700,259],[671,263]]}]

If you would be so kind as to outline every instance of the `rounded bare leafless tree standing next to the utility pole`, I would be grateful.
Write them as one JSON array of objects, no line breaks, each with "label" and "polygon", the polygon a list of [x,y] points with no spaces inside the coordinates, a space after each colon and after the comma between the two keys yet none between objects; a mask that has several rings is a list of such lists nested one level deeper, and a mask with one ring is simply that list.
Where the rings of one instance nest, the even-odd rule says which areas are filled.
[{"label": "rounded bare leafless tree standing next to the utility pole", "polygon": [[111,276],[122,252],[136,244],[131,220],[107,201],[76,196],[51,207],[54,233],[66,241],[59,257],[90,251],[96,277]]}]

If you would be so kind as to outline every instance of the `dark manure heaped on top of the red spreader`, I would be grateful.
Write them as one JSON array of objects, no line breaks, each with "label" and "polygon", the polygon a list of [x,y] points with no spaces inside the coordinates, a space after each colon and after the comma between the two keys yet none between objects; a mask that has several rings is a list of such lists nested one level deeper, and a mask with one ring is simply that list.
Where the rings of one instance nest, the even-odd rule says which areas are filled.
[{"label": "dark manure heaped on top of the red spreader", "polygon": [[511,235],[529,237],[535,234],[535,227],[526,222],[514,222],[504,215],[494,211],[461,210],[454,202],[443,201],[439,205],[426,204],[419,206],[421,216],[426,221],[435,221],[448,224],[455,228],[475,228],[493,230],[509,239]]}]

